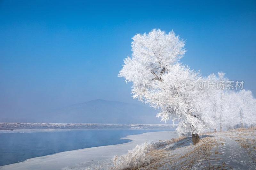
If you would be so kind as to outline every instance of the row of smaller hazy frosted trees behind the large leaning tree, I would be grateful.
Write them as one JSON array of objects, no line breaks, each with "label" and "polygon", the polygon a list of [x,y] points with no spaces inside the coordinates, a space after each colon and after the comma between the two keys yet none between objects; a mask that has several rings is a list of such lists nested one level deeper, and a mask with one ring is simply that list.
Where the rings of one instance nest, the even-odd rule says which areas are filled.
[{"label": "row of smaller hazy frosted trees behind the large leaning tree", "polygon": [[[210,98],[210,115],[213,118],[213,129],[222,131],[222,127],[233,129],[236,127],[251,127],[256,122],[256,100],[252,96],[250,90],[232,90],[219,88],[218,83],[223,84],[229,82],[224,77],[225,73],[218,72],[218,75],[211,74],[208,76],[209,82],[215,82],[211,90]],[[242,88],[242,87],[241,87]]]}]

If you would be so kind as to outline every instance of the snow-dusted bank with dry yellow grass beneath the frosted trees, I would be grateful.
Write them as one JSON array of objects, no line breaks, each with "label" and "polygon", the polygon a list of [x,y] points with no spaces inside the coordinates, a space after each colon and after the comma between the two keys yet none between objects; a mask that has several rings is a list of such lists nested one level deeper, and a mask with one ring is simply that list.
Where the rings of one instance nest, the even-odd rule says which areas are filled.
[{"label": "snow-dusted bank with dry yellow grass beneath the frosted trees", "polygon": [[256,130],[236,129],[191,137],[159,147],[149,154],[153,163],[140,169],[256,169]]}]

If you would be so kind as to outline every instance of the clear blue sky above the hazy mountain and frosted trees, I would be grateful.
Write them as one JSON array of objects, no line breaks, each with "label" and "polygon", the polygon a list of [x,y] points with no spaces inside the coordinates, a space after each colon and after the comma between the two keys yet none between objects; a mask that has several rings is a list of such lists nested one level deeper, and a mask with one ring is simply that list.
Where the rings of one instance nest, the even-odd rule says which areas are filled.
[{"label": "clear blue sky above the hazy mountain and frosted trees", "polygon": [[182,62],[223,71],[255,95],[256,1],[0,0],[0,113],[94,99],[139,103],[117,74],[136,33],[187,40]]}]

